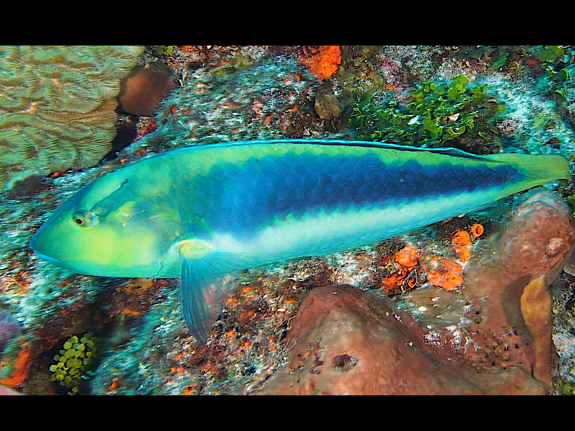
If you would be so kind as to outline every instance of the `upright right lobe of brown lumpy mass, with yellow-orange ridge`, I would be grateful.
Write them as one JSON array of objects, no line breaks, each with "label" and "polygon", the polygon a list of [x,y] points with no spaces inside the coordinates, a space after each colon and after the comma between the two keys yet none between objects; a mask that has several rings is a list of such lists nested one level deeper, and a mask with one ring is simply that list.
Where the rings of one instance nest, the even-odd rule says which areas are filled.
[{"label": "upright right lobe of brown lumpy mass, with yellow-orange ridge", "polygon": [[466,363],[478,370],[523,368],[551,386],[558,358],[546,285],[570,260],[574,243],[565,202],[542,189],[526,194],[505,229],[484,244],[493,253],[472,259],[465,276],[467,331],[476,347],[466,349]]}]

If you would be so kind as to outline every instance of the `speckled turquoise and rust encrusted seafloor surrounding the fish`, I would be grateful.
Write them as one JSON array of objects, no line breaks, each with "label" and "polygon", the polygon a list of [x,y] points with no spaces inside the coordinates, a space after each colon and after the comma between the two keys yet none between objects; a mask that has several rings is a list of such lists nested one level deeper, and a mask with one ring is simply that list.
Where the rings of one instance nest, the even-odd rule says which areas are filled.
[{"label": "speckled turquoise and rust encrusted seafloor surrounding the fish", "polygon": [[[142,63],[163,61],[182,85],[164,99],[155,118],[118,119],[137,121],[135,143],[97,167],[51,176],[3,195],[0,308],[20,322],[22,331],[2,353],[0,379],[20,372],[17,391],[66,394],[68,388],[51,381],[52,358],[69,337],[93,332],[96,361],[79,394],[250,393],[285,365],[288,347],[282,340],[306,290],[329,284],[381,289],[382,278],[393,271],[382,264],[385,256],[405,244],[447,253],[444,238],[449,234],[476,222],[496,232],[503,215],[520,200],[508,197],[480,213],[354,251],[232,274],[233,294],[208,345],[202,346],[183,322],[178,279],[76,275],[37,259],[27,247],[37,228],[75,191],[144,157],[223,141],[352,137],[348,118],[359,96],[373,93],[375,106],[387,107],[390,101],[405,106],[421,82],[448,83],[464,75],[471,87],[489,84],[486,92],[505,111],[492,123],[494,139],[468,140],[461,148],[555,153],[575,160],[575,66],[567,67],[574,70],[561,82],[550,79],[551,72],[538,60],[544,47],[341,47],[338,71],[322,82],[308,70],[318,48],[147,47]],[[572,61],[570,52],[565,47],[556,68]],[[331,91],[343,103],[338,118],[317,114],[320,91]],[[158,126],[150,133],[154,123]],[[565,198],[575,192],[573,180],[545,187]],[[475,240],[474,250],[481,241]],[[563,272],[551,287],[559,388],[575,382],[574,286],[575,278]]]}]

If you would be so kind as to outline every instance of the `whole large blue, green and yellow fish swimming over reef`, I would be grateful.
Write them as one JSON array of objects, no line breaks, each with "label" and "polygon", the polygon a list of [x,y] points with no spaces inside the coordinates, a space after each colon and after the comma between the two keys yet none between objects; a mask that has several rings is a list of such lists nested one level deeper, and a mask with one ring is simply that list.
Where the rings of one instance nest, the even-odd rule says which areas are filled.
[{"label": "whole large blue, green and yellow fish swimming over reef", "polygon": [[375,243],[559,178],[570,175],[558,155],[342,140],[204,145],[95,180],[30,247],[79,274],[180,277],[186,323],[205,343],[228,272]]}]

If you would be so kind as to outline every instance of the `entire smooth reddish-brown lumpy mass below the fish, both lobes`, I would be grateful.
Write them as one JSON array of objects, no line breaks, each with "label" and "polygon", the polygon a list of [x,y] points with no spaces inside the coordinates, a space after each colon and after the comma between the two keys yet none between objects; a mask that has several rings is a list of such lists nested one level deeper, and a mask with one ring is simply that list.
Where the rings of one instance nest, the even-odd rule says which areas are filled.
[{"label": "entire smooth reddish-brown lumpy mass below the fish, both lobes", "polygon": [[289,364],[259,393],[549,393],[557,354],[547,282],[572,252],[575,224],[560,198],[540,190],[471,259],[464,288],[411,294],[421,310],[449,303],[443,326],[369,291],[316,288],[290,322]]}]

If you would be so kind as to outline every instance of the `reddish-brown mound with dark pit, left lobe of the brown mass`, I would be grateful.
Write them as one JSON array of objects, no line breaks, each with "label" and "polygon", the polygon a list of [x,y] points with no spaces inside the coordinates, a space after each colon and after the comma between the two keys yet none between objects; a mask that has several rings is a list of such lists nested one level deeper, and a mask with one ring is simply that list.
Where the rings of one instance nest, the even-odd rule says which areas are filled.
[{"label": "reddish-brown mound with dark pit, left lobe of the brown mass", "polygon": [[[352,286],[318,287],[291,322],[290,363],[263,394],[542,394],[516,369],[481,376],[451,349],[425,343],[425,332],[393,301]],[[526,383],[527,382],[527,383]]]}]

